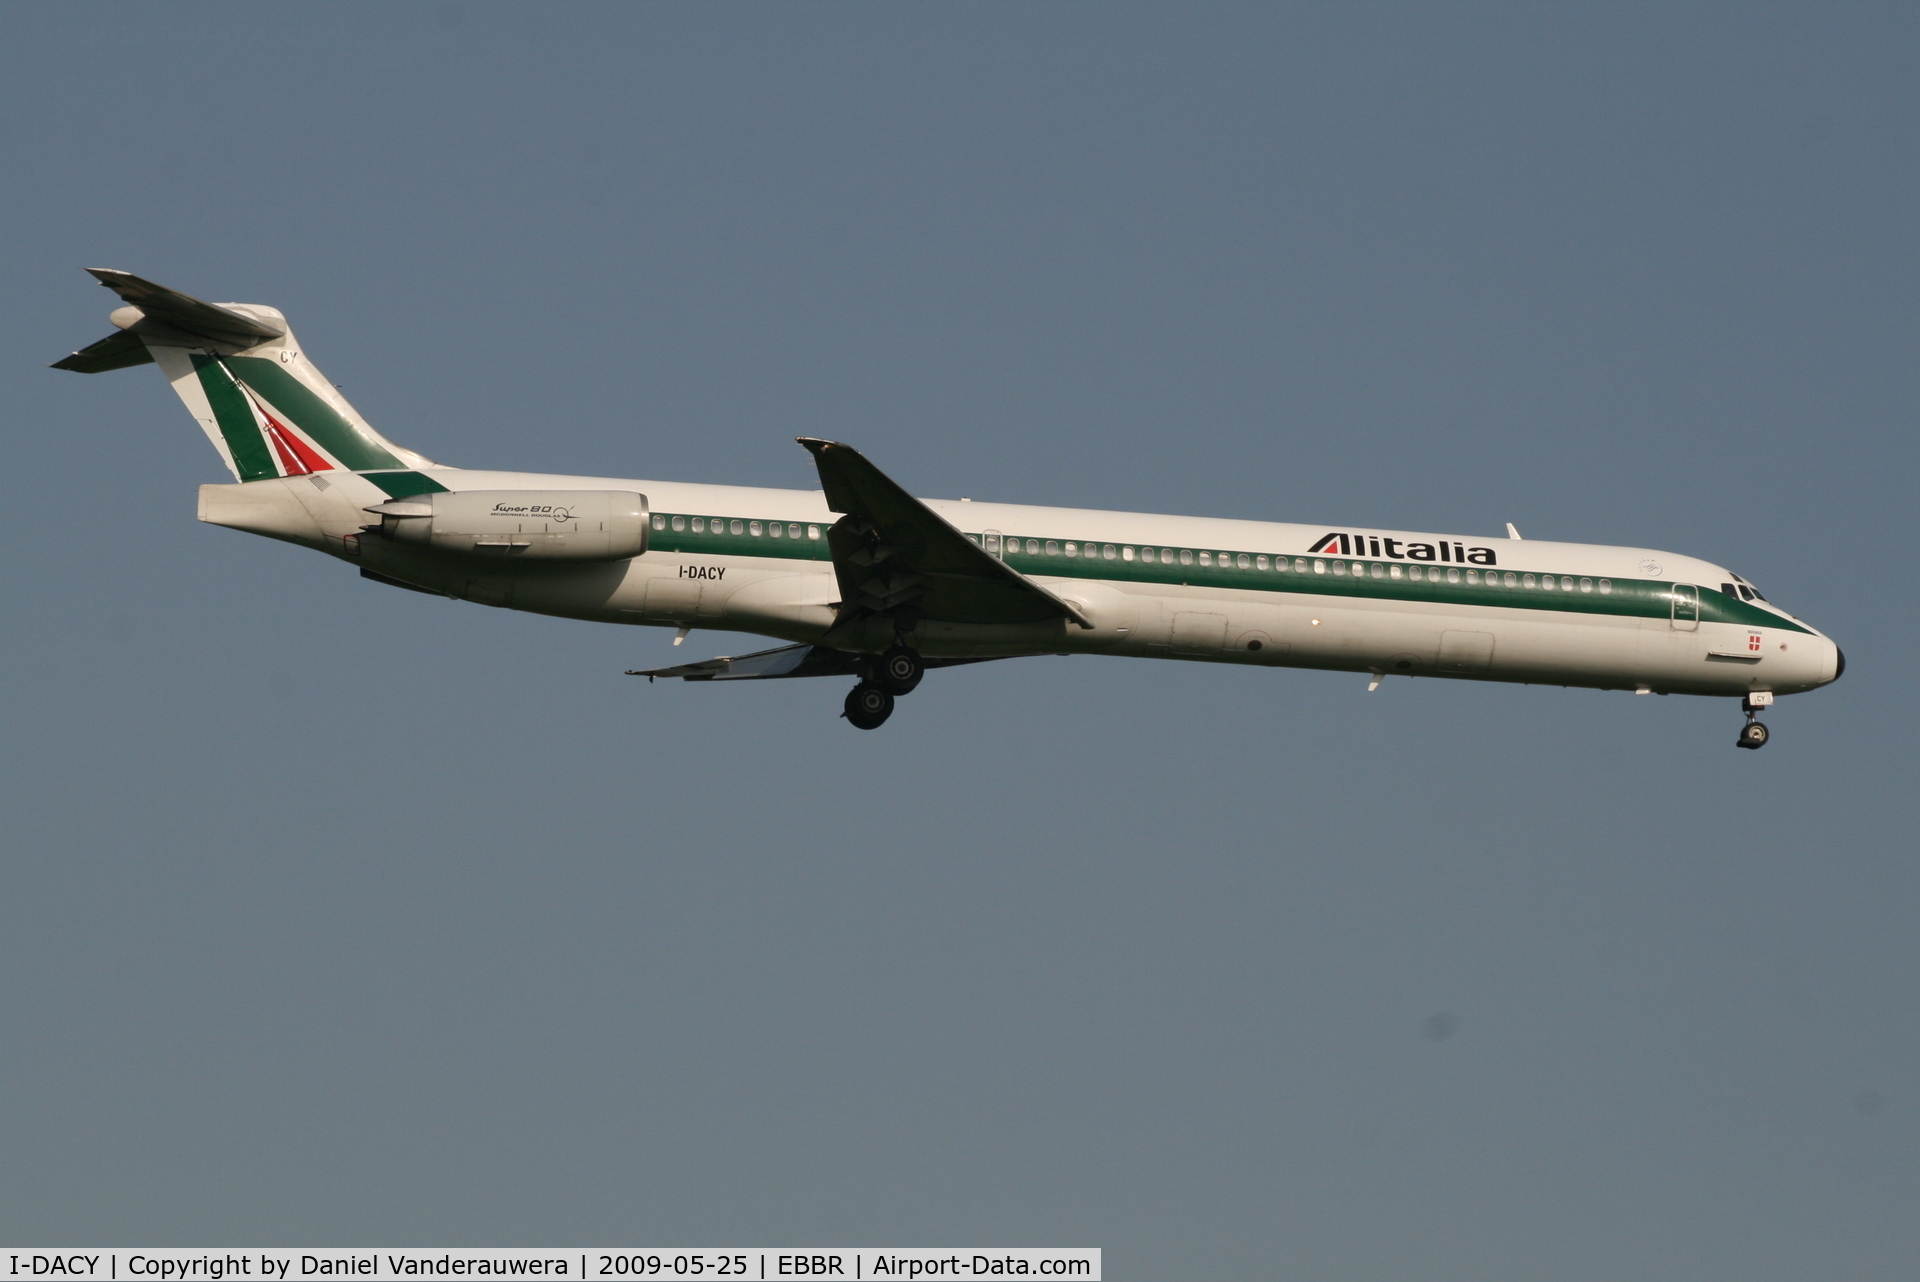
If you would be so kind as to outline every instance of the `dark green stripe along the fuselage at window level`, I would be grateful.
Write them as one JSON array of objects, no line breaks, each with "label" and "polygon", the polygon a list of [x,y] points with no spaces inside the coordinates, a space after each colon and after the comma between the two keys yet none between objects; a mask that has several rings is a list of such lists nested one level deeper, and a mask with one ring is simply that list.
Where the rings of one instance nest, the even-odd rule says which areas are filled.
[{"label": "dark green stripe along the fuselage at window level", "polygon": [[[826,541],[826,526],[820,526],[820,539],[806,537],[806,524],[801,524],[801,537],[770,537],[766,534],[749,534],[751,524],[741,518],[741,534],[714,534],[712,530],[695,534],[689,530],[674,530],[674,520],[682,520],[691,526],[691,518],[676,518],[670,512],[660,512],[664,524],[662,530],[653,530],[647,541],[651,551],[660,553],[682,553],[687,557],[772,557],[783,560],[831,560]],[[722,518],[732,520],[732,518]],[[708,526],[714,524],[712,518],[703,518]],[[770,528],[768,522],[764,528]],[[781,522],[781,530],[789,528],[791,522]],[[979,543],[979,534],[970,534],[970,539]],[[1021,535],[1025,539],[1025,535]],[[1012,547],[1014,539],[1004,539],[1004,547]],[[1062,539],[1054,541],[1062,549],[1066,543]],[[1267,553],[1271,560],[1286,560],[1290,566],[1306,562],[1306,572],[1298,568],[1290,570],[1260,570],[1260,568],[1238,568],[1233,562],[1244,555],[1250,562],[1258,553],[1219,553],[1219,549],[1206,549],[1210,558],[1215,562],[1212,566],[1198,564],[1200,549],[1175,549],[1175,553],[1192,551],[1194,564],[1165,564],[1158,560],[1123,560],[1117,555],[1114,560],[1106,557],[1066,557],[1046,553],[1027,553],[1027,551],[1008,551],[1004,555],[1006,564],[1014,566],[1021,574],[1033,578],[1069,578],[1069,580],[1106,580],[1114,583],[1165,583],[1181,587],[1213,587],[1213,589],[1233,589],[1233,591],[1271,591],[1271,593],[1292,593],[1292,595],[1313,595],[1313,597],[1356,597],[1363,601],[1409,601],[1425,605],[1463,605],[1480,608],[1507,608],[1507,610],[1555,610],[1561,614],[1617,614],[1630,618],[1670,618],[1674,612],[1674,583],[1665,580],[1605,580],[1611,591],[1599,591],[1601,580],[1596,576],[1586,576],[1594,585],[1592,591],[1580,589],[1582,576],[1553,576],[1559,583],[1563,578],[1571,578],[1574,587],[1569,591],[1565,587],[1524,587],[1524,578],[1530,574],[1534,582],[1542,582],[1546,576],[1538,570],[1532,572],[1513,572],[1515,585],[1505,585],[1507,570],[1484,568],[1484,566],[1440,566],[1425,562],[1398,562],[1402,574],[1411,566],[1419,564],[1427,574],[1444,574],[1446,570],[1459,570],[1461,580],[1450,583],[1446,580],[1423,578],[1415,582],[1413,578],[1392,578],[1394,562],[1386,560],[1361,560],[1356,557],[1311,557],[1311,555],[1290,555],[1281,557],[1277,553]],[[1258,566],[1258,562],[1256,562]],[[1321,566],[1315,572],[1313,566]],[[1340,566],[1340,572],[1334,572]],[[1467,583],[1467,572],[1482,574],[1488,582]],[[1498,582],[1494,582],[1498,578]],[[1741,624],[1747,628],[1784,628],[1788,631],[1809,631],[1793,620],[1782,618],[1759,606],[1728,597],[1726,593],[1699,585],[1699,620],[1703,624]]]}]

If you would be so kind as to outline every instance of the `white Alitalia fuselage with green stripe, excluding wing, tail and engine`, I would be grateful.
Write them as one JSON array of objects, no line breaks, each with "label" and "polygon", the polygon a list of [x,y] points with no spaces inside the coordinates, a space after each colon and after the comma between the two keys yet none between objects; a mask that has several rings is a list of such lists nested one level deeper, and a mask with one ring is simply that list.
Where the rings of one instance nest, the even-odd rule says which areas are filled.
[{"label": "white Alitalia fuselage with green stripe, excluding wing, tail and engine", "polygon": [[[634,491],[647,549],[540,562],[518,557],[524,547],[447,553],[378,537],[367,509],[399,499],[413,476],[449,491]],[[1640,547],[925,503],[1092,624],[929,618],[914,637],[927,656],[1100,653],[1734,697],[1807,691],[1843,662],[1724,568]],[[837,516],[820,491],[422,468],[205,486],[200,514],[541,614],[785,641],[818,641],[837,618],[824,537]],[[854,649],[891,639],[876,620]]]}]

